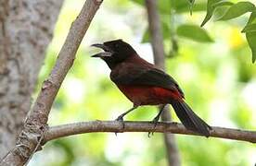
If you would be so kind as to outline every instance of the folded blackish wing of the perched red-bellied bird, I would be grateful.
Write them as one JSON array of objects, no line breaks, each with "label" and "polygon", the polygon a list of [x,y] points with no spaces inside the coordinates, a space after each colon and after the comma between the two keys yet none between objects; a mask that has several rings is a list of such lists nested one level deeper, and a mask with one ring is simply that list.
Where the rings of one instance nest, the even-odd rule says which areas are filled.
[{"label": "folded blackish wing of the perched red-bellied bird", "polygon": [[119,85],[155,86],[164,89],[178,90],[184,97],[182,89],[173,77],[158,68],[134,65],[127,67],[125,72],[111,73],[111,80]]}]

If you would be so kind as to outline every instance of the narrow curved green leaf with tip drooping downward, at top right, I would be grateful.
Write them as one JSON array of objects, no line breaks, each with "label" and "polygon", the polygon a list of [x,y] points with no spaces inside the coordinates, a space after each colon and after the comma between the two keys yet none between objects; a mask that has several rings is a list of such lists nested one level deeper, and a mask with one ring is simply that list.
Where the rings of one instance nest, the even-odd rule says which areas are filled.
[{"label": "narrow curved green leaf with tip drooping downward, at top right", "polygon": [[214,10],[217,7],[220,6],[232,6],[233,3],[232,2],[228,2],[228,1],[222,1],[222,0],[208,0],[207,1],[207,13],[205,18],[203,19],[202,23],[201,23],[201,27],[203,27],[212,17]]}]

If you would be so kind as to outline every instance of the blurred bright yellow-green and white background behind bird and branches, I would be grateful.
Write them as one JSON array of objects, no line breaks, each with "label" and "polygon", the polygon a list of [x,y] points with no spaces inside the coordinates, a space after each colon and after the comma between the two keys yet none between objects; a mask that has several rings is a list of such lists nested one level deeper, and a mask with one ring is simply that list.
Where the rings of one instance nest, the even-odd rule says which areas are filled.
[{"label": "blurred bright yellow-green and white background behind bird and branches", "polygon": [[[62,7],[38,88],[54,65],[70,24],[83,3],[83,0],[66,0]],[[213,21],[213,18],[196,33],[193,26],[198,27],[205,17],[206,2],[197,1],[192,16],[186,0],[172,6],[172,12],[166,10],[170,6],[169,0],[160,1],[167,72],[184,89],[186,101],[210,125],[256,130],[256,65],[251,63],[250,48],[240,32],[249,15],[229,21]],[[224,7],[217,10],[216,17],[224,10]],[[90,47],[91,44],[114,39],[129,42],[137,53],[153,62],[143,1],[104,1],[58,92],[49,125],[114,120],[131,108],[132,103],[110,82],[108,66],[99,59],[90,58],[99,52]],[[173,110],[171,112],[174,121],[178,121]],[[126,120],[149,121],[157,113],[157,108],[146,106],[127,115]],[[248,142],[175,136],[185,166],[246,166],[256,162],[256,145]],[[29,165],[153,166],[167,165],[167,160],[161,134],[148,138],[147,133],[118,136],[93,133],[51,141],[34,155]]]}]

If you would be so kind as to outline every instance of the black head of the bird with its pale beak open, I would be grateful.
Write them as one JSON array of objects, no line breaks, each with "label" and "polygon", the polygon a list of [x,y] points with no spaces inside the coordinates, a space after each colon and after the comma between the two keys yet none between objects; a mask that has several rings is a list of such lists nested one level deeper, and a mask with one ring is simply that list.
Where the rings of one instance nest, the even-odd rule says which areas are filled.
[{"label": "black head of the bird with its pale beak open", "polygon": [[92,57],[100,57],[109,65],[110,69],[136,54],[134,48],[122,40],[106,41],[103,42],[103,44],[96,43],[92,46],[101,48],[105,51],[103,53],[97,53]]}]

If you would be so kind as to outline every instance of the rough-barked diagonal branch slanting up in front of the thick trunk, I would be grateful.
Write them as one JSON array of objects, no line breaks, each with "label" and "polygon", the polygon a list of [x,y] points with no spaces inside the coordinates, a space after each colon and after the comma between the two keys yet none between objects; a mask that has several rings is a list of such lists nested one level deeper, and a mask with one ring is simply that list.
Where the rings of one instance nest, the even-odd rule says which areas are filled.
[{"label": "rough-barked diagonal branch slanting up in front of the thick trunk", "polygon": [[[35,148],[40,144],[46,130],[48,114],[58,89],[70,70],[83,36],[102,1],[86,0],[84,3],[81,13],[72,23],[66,41],[58,53],[56,65],[42,85],[32,111],[25,121],[24,129],[19,135],[16,147],[1,160],[1,166],[24,165],[32,157]],[[39,146],[39,148],[41,147]]]}]

